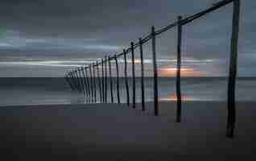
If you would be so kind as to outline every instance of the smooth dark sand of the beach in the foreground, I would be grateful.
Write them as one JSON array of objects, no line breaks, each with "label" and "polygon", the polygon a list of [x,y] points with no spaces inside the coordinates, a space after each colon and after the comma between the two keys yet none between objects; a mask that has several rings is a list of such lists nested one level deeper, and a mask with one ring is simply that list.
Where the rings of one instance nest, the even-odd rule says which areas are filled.
[{"label": "smooth dark sand of the beach in the foreground", "polygon": [[[256,103],[237,103],[234,138],[225,137],[224,102],[175,102],[142,112],[127,105],[0,107],[0,155],[16,160],[256,159]],[[248,156],[248,157],[247,157]],[[246,157],[246,158],[245,158]]]}]

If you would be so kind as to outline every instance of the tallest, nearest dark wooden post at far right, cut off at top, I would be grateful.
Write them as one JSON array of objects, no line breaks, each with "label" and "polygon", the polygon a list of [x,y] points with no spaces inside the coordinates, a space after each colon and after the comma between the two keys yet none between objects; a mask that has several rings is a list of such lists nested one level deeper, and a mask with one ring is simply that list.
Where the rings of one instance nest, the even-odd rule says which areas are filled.
[{"label": "tallest, nearest dark wooden post at far right, cut off at top", "polygon": [[233,1],[233,24],[231,51],[229,63],[229,83],[228,83],[228,121],[226,136],[233,138],[233,130],[236,122],[236,102],[235,102],[235,87],[237,76],[237,48],[239,35],[239,17],[240,17],[240,0]]}]

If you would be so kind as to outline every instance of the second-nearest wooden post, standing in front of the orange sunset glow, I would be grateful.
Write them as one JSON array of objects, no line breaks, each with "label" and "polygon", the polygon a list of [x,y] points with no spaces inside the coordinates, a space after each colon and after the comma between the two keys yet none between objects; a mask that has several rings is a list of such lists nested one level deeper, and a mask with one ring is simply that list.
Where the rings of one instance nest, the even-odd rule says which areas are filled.
[{"label": "second-nearest wooden post, standing in front of the orange sunset glow", "polygon": [[176,97],[177,116],[176,122],[181,122],[181,91],[180,91],[180,66],[181,66],[181,43],[182,43],[182,16],[178,17],[178,43],[177,43],[177,70],[176,70]]}]

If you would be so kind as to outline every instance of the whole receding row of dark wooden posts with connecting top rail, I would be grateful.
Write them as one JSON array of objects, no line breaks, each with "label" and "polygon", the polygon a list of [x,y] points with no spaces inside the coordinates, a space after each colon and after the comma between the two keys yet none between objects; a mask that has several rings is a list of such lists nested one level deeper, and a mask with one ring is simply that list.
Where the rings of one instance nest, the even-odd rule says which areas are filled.
[{"label": "whole receding row of dark wooden posts with connecting top rail", "polygon": [[[188,23],[191,23],[195,19],[199,19],[217,10],[222,6],[225,6],[233,2],[233,26],[232,26],[232,38],[231,38],[231,51],[230,51],[230,64],[229,64],[229,82],[228,82],[228,106],[227,106],[227,130],[226,136],[233,138],[233,130],[235,127],[235,82],[237,76],[237,43],[238,43],[238,29],[239,29],[239,15],[240,15],[240,0],[222,0],[221,2],[215,3],[213,6],[209,7],[207,10],[203,10],[200,13],[193,14],[188,18],[183,19],[181,16],[175,23],[171,23],[167,27],[163,27],[159,31],[155,31],[155,27],[151,27],[151,34],[147,35],[144,39],[138,39],[138,43],[130,43],[128,49],[124,49],[122,53],[114,56],[105,56],[101,62],[96,62],[89,64],[85,67],[76,68],[68,72],[65,76],[70,87],[74,90],[78,90],[84,93],[86,97],[93,98],[93,102],[111,102],[114,103],[114,84],[112,81],[112,69],[111,60],[115,61],[116,65],[116,93],[117,102],[120,103],[120,89],[119,89],[119,68],[118,68],[118,58],[123,56],[124,59],[124,78],[126,87],[126,103],[130,105],[130,93],[127,77],[127,54],[131,53],[132,60],[132,107],[135,108],[135,67],[134,67],[134,49],[139,47],[140,60],[141,60],[141,97],[142,97],[142,110],[145,110],[145,91],[144,91],[144,67],[143,67],[143,44],[151,40],[152,55],[153,55],[153,70],[154,70],[154,114],[159,115],[159,98],[158,98],[158,70],[156,63],[156,36],[168,31],[172,27],[177,27],[177,72],[176,72],[176,96],[177,96],[177,109],[176,109],[176,122],[181,122],[181,90],[180,90],[180,68],[181,68],[181,47],[182,47],[182,27]],[[107,71],[107,64],[109,64],[109,71]],[[100,69],[101,67],[101,69]],[[101,75],[100,75],[101,70]],[[109,73],[109,76],[108,74]],[[109,77],[109,83],[107,82]],[[81,79],[82,78],[82,79]],[[110,101],[107,100],[107,88],[109,84],[110,90]]]}]

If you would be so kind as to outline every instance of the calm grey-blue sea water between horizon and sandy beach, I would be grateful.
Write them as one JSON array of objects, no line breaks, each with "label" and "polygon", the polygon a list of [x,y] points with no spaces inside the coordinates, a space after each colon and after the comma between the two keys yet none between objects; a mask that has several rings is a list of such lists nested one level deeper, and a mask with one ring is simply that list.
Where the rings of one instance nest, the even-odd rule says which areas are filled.
[{"label": "calm grey-blue sea water between horizon and sandy beach", "polygon": [[[108,80],[109,81],[109,80]],[[114,80],[115,81],[115,80]],[[130,100],[132,84],[129,80]],[[116,85],[114,85],[114,89]],[[237,101],[255,101],[256,78],[237,79]],[[0,105],[76,104],[89,102],[83,93],[72,91],[64,78],[1,78]],[[109,87],[108,87],[109,89]],[[121,101],[126,101],[124,80],[120,79]],[[184,101],[225,101],[227,79],[224,77],[182,78]],[[109,90],[108,95],[110,96]],[[145,78],[146,101],[153,100],[153,80]],[[117,93],[114,90],[114,101]],[[97,97],[98,99],[98,97]],[[108,97],[110,101],[110,97]],[[175,78],[159,78],[159,100],[175,101]],[[140,78],[136,78],[136,101],[141,101]]]}]

